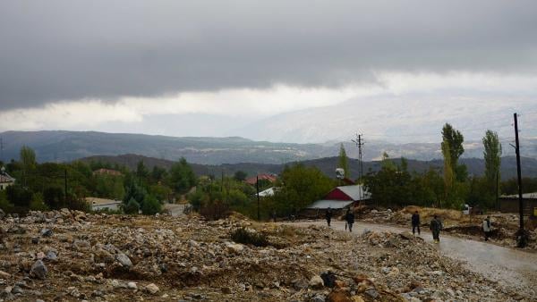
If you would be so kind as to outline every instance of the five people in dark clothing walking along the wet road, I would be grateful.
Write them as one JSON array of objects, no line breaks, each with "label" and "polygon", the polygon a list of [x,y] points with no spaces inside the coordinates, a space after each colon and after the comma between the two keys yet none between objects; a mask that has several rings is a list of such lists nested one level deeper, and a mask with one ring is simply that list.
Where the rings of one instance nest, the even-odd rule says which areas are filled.
[{"label": "five people in dark clothing walking along the wet road", "polygon": [[[332,222],[332,209],[328,207],[328,210],[325,213],[325,219],[327,220],[328,227],[330,226],[330,222]],[[351,211],[351,209],[347,209],[347,212],[345,214],[345,230],[353,231],[353,224],[354,224],[354,213]],[[416,231],[418,232],[418,236],[421,235],[422,231],[420,230],[421,221],[420,221],[420,214],[418,211],[415,211],[412,214],[412,233],[415,235]],[[429,230],[432,232],[432,239],[435,243],[440,242],[440,231],[443,229],[442,221],[440,220],[439,216],[435,214],[430,220],[429,223]],[[490,216],[487,216],[485,220],[482,222],[482,230],[485,235],[485,241],[488,241],[490,238]]]}]

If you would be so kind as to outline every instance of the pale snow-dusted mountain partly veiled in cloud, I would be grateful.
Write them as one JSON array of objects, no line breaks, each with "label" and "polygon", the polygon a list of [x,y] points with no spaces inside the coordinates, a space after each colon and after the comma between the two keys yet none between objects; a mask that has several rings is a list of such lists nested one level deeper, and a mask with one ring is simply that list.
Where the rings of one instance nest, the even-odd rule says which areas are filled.
[{"label": "pale snow-dusted mountain partly veiled in cloud", "polygon": [[355,98],[338,105],[272,116],[233,130],[233,134],[275,142],[322,143],[348,141],[355,133],[362,133],[370,142],[439,143],[442,126],[450,122],[467,141],[479,142],[490,129],[498,131],[507,142],[514,139],[513,113],[522,113],[521,136],[537,137],[537,105],[528,105],[531,102],[524,96],[517,96],[518,101],[507,101],[507,96],[496,96],[496,101],[493,96],[472,97],[472,101],[463,96],[443,100],[432,97]]}]

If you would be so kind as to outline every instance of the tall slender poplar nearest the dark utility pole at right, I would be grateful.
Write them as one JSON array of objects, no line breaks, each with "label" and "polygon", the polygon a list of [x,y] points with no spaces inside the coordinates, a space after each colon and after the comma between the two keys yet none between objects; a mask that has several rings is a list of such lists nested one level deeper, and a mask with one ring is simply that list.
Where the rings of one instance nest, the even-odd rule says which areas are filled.
[{"label": "tall slender poplar nearest the dark utility pole at right", "polygon": [[485,158],[485,178],[489,188],[496,188],[499,180],[499,167],[501,164],[501,144],[499,143],[498,133],[487,130],[483,141],[483,157]]}]

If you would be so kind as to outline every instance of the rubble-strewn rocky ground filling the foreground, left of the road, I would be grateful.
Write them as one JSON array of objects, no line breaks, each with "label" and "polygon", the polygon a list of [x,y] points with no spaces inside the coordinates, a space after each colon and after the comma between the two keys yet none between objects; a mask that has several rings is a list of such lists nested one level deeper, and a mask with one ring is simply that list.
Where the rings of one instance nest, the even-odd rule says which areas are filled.
[{"label": "rubble-strewn rocky ground filling the foreground, left of the road", "polygon": [[[408,233],[68,210],[0,221],[1,301],[534,300]],[[231,239],[237,229],[263,247]]]}]

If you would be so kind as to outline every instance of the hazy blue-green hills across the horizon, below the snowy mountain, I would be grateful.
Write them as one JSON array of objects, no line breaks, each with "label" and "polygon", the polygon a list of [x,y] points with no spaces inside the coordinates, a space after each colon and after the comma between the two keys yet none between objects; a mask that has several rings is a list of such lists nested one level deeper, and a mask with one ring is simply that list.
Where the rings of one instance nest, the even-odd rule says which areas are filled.
[{"label": "hazy blue-green hills across the horizon, below the snowy mountain", "polygon": [[[68,162],[94,155],[136,154],[176,161],[186,158],[193,164],[285,164],[336,156],[341,142],[323,144],[293,144],[254,141],[247,138],[177,138],[144,134],[81,132],[81,131],[6,131],[0,133],[3,141],[2,160],[19,157],[22,146],[36,151],[39,162]],[[351,141],[344,142],[347,155],[358,157],[358,149]],[[512,147],[504,143],[504,155],[514,155]],[[465,158],[482,157],[480,142],[465,143]],[[366,140],[363,160],[378,160],[387,152],[390,157],[431,161],[441,158],[439,143],[396,144]],[[521,153],[537,158],[537,139],[525,139]]]}]

